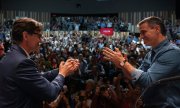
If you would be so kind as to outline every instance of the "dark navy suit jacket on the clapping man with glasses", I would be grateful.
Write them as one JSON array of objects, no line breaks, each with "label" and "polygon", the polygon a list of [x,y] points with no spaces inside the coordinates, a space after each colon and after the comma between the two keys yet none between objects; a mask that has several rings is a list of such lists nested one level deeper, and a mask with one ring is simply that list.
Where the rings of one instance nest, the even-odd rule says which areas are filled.
[{"label": "dark navy suit jacket on the clapping man with glasses", "polygon": [[0,108],[41,108],[42,101],[56,99],[63,84],[58,70],[42,75],[25,51],[13,45],[0,61]]}]

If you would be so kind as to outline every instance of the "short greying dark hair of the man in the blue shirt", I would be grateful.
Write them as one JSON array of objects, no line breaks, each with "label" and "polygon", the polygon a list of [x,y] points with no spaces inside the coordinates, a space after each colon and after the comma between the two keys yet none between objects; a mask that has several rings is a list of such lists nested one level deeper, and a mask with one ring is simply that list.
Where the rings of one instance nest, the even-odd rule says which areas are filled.
[{"label": "short greying dark hair of the man in the blue shirt", "polygon": [[166,35],[166,27],[165,27],[164,22],[161,18],[156,17],[156,16],[150,16],[150,17],[147,17],[147,18],[143,19],[142,21],[140,21],[137,24],[137,26],[139,27],[140,25],[142,25],[144,23],[148,23],[149,26],[151,26],[151,27],[154,27],[155,25],[159,25],[162,35],[164,35],[164,36]]}]

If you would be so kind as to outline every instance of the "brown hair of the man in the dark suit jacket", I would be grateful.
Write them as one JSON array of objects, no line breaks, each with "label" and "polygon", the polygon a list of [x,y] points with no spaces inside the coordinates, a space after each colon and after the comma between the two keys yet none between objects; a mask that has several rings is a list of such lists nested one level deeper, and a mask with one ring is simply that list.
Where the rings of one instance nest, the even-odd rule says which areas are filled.
[{"label": "brown hair of the man in the dark suit jacket", "polygon": [[17,19],[12,27],[12,41],[13,43],[22,42],[23,36],[22,33],[24,31],[29,34],[33,34],[35,32],[40,32],[43,30],[42,23],[32,19],[32,18],[19,18]]}]

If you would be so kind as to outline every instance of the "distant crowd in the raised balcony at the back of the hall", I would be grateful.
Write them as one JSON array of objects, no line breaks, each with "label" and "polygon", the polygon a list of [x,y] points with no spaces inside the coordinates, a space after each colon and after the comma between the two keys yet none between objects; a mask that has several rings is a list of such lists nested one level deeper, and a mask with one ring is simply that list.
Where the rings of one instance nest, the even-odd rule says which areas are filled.
[{"label": "distant crowd in the raised balcony at the back of the hall", "polygon": [[73,16],[73,17],[52,17],[50,30],[99,30],[100,28],[114,28],[115,31],[129,31],[129,23],[117,16]]}]

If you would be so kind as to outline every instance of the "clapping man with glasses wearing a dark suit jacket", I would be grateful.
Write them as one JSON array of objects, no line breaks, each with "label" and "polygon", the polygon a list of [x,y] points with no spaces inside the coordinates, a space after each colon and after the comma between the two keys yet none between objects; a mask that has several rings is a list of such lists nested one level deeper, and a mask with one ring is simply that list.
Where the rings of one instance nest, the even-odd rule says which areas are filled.
[{"label": "clapping man with glasses wearing a dark suit jacket", "polygon": [[79,67],[78,60],[68,59],[59,69],[42,75],[29,56],[39,49],[42,30],[42,24],[31,18],[14,22],[14,45],[0,61],[0,108],[41,108],[42,101],[56,99],[64,78]]}]

